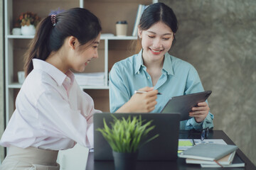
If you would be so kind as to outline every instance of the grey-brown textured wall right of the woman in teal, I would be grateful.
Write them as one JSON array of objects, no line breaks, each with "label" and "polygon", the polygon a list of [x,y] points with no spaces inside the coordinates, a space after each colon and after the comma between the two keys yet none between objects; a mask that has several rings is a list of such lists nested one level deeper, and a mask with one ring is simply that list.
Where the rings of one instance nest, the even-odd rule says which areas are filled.
[{"label": "grey-brown textured wall right of the woman in teal", "polygon": [[178,18],[170,53],[193,64],[207,90],[215,130],[256,164],[256,1],[164,0]]}]

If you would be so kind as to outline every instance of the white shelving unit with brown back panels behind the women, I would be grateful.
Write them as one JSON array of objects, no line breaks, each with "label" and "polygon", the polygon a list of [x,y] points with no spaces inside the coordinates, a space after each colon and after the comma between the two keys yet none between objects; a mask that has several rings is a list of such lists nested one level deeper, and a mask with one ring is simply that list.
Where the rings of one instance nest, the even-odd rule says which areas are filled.
[{"label": "white shelving unit with brown back panels behind the women", "polygon": [[[14,113],[16,96],[22,84],[18,83],[17,72],[23,70],[23,55],[28,50],[28,42],[34,35],[13,35],[11,30],[14,28],[14,21],[20,13],[31,11],[37,13],[41,18],[48,16],[50,10],[68,9],[80,6],[87,8],[101,21],[102,33],[101,42],[98,49],[99,58],[92,61],[85,72],[105,72],[105,81],[102,86],[80,86],[95,101],[95,108],[101,111],[110,111],[109,108],[109,72],[115,62],[124,60],[133,55],[133,42],[137,36],[115,36],[117,21],[126,20],[128,23],[127,35],[132,35],[134,21],[136,19],[139,4],[151,4],[155,0],[50,0],[33,1],[4,0],[4,40],[5,40],[5,99],[6,99],[6,125]],[[61,3],[60,3],[61,2]],[[125,8],[124,8],[125,6]],[[117,15],[117,13],[119,13]],[[131,46],[131,47],[130,47]]]}]

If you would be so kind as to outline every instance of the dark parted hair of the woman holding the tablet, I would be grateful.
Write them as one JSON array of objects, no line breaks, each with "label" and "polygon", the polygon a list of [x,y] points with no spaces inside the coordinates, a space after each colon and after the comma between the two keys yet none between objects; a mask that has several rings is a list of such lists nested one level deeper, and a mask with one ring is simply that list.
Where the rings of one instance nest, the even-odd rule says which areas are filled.
[{"label": "dark parted hair of the woman holding the tablet", "polygon": [[[159,21],[165,23],[166,26],[169,26],[174,34],[177,32],[178,21],[174,11],[169,6],[166,6],[166,4],[161,2],[151,4],[145,9],[139,21],[139,29],[147,30]],[[176,38],[174,35],[174,42],[175,41]],[[138,38],[137,51],[141,49],[141,46],[141,40]]]}]

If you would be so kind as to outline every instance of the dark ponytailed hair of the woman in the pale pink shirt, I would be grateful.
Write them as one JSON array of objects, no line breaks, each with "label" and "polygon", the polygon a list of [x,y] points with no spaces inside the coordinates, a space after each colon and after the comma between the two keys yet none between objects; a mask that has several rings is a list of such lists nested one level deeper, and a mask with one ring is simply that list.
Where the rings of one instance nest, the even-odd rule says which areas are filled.
[{"label": "dark ponytailed hair of the woman in the pale pink shirt", "polygon": [[85,8],[71,8],[55,17],[44,18],[37,27],[36,35],[26,52],[24,70],[26,76],[32,71],[32,59],[46,60],[50,52],[58,51],[65,38],[74,36],[84,45],[95,40],[102,30],[98,18]]}]

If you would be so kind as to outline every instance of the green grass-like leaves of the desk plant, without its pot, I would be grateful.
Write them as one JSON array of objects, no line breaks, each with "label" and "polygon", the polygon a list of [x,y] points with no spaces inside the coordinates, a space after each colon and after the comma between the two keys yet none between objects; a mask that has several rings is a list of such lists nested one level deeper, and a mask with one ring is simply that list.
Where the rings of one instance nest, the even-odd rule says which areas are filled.
[{"label": "green grass-like leaves of the desk plant, without its pot", "polygon": [[139,118],[134,116],[133,119],[131,119],[129,115],[127,120],[124,117],[120,120],[114,115],[112,115],[112,117],[114,121],[110,123],[111,128],[107,126],[104,118],[104,128],[97,128],[97,130],[102,133],[114,152],[137,152],[139,147],[159,137],[159,134],[157,134],[146,140],[148,133],[155,128],[155,125],[150,126],[153,120],[144,123],[145,120],[142,120],[141,115]]}]

